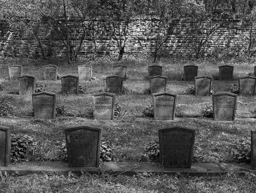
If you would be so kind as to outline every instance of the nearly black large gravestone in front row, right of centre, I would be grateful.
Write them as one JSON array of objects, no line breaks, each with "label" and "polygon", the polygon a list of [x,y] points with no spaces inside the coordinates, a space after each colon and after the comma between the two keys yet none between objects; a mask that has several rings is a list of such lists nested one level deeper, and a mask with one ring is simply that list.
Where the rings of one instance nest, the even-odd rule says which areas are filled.
[{"label": "nearly black large gravestone in front row, right of centre", "polygon": [[160,164],[164,168],[191,168],[196,131],[191,128],[158,130]]}]

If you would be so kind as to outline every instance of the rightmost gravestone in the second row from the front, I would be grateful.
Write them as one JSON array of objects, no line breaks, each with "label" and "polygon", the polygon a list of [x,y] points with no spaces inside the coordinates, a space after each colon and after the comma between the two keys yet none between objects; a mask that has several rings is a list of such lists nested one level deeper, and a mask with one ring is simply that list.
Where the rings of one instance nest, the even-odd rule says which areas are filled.
[{"label": "rightmost gravestone in the second row from the front", "polygon": [[217,93],[212,95],[213,119],[216,121],[234,121],[237,95]]}]

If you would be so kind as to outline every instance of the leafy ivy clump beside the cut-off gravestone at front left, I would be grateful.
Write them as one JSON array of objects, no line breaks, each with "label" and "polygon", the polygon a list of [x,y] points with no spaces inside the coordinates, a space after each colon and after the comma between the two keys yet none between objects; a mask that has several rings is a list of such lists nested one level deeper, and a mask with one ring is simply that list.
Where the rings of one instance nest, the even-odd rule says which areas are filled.
[{"label": "leafy ivy clump beside the cut-off gravestone at front left", "polygon": [[37,147],[37,140],[28,135],[11,134],[11,161],[30,161]]}]

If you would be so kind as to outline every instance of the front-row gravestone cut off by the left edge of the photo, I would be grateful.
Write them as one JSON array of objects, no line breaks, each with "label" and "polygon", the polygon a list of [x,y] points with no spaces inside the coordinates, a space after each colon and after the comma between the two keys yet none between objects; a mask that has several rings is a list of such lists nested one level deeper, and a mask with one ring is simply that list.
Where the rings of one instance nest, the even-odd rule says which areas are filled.
[{"label": "front-row gravestone cut off by the left edge of the photo", "polygon": [[11,159],[11,132],[7,126],[0,126],[0,166],[8,166]]}]

